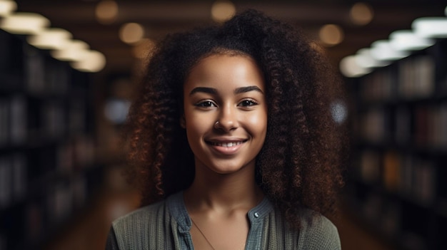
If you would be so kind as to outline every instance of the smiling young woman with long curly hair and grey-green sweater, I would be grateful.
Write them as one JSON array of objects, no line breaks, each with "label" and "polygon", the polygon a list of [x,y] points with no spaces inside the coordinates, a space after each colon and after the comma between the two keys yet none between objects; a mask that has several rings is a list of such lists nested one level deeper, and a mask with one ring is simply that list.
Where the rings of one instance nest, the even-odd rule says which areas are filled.
[{"label": "smiling young woman with long curly hair and grey-green sweater", "polygon": [[257,11],[167,37],[129,112],[141,209],[107,249],[341,249],[337,78]]}]

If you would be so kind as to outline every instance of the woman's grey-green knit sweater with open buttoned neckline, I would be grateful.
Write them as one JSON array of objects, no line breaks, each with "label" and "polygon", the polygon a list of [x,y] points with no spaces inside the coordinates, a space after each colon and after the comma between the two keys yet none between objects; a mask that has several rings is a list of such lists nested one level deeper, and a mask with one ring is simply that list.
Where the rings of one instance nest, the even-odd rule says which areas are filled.
[{"label": "woman's grey-green knit sweater with open buttoned neckline", "polygon": [[[341,249],[338,231],[326,217],[303,210],[301,230],[289,230],[267,198],[247,214],[246,249]],[[106,250],[194,249],[191,219],[179,192],[113,222]]]}]

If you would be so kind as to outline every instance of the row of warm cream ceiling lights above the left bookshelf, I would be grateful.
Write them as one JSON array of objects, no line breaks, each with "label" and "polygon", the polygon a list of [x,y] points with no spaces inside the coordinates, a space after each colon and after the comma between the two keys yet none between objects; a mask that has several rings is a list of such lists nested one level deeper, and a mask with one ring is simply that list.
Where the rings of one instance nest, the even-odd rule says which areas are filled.
[{"label": "row of warm cream ceiling lights above the left bookshelf", "polygon": [[12,0],[0,0],[0,28],[14,34],[26,35],[26,41],[37,48],[50,50],[51,56],[69,61],[79,71],[97,72],[106,65],[105,56],[89,48],[84,41],[75,40],[62,28],[51,28],[49,19],[35,13],[15,12]]}]

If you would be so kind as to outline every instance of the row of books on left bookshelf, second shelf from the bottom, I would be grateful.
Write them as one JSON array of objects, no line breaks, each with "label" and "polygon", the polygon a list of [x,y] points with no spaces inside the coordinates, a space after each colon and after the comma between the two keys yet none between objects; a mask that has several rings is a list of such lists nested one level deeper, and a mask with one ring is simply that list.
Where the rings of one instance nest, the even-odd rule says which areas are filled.
[{"label": "row of books on left bookshelf, second shelf from the bottom", "polygon": [[94,161],[94,141],[86,135],[56,145],[0,154],[0,211],[21,202],[28,189],[38,191],[35,187],[49,180],[79,175],[94,167]]}]

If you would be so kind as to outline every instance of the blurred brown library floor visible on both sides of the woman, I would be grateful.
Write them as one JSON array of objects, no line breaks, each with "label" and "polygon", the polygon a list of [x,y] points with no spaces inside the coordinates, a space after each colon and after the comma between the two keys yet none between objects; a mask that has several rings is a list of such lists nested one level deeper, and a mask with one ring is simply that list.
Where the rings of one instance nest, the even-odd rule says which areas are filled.
[{"label": "blurred brown library floor visible on both sides of the woman", "polygon": [[[115,191],[113,191],[115,190]],[[139,197],[129,189],[111,189],[98,195],[91,207],[60,232],[45,250],[99,250],[104,249],[111,221],[137,207]],[[348,213],[341,211],[333,219],[338,227],[343,250],[391,250],[392,246],[381,241],[364,226],[356,223]]]}]

